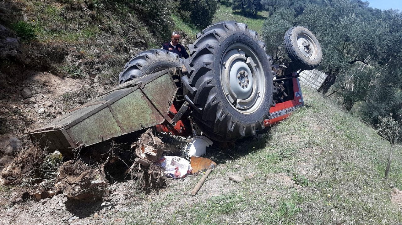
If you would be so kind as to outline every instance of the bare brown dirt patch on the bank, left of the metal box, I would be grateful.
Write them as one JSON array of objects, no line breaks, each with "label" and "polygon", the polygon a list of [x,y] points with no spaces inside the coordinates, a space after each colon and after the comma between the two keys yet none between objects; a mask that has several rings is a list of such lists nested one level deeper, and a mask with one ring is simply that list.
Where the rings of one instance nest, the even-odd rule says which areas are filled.
[{"label": "bare brown dirt patch on the bank, left of the metal box", "polygon": [[[61,117],[66,109],[62,95],[77,92],[84,86],[90,83],[48,72],[33,72],[33,76],[21,84],[0,89],[0,134],[21,136],[27,128],[37,129]],[[25,97],[24,89],[30,92]]]}]

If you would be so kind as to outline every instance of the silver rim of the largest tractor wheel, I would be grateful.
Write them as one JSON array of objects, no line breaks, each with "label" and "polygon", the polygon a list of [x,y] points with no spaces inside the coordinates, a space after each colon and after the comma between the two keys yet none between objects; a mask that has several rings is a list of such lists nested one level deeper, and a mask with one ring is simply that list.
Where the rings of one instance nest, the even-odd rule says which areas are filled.
[{"label": "silver rim of the largest tractor wheel", "polygon": [[265,75],[262,63],[248,46],[229,46],[221,60],[221,84],[226,100],[244,114],[255,112],[263,102]]}]

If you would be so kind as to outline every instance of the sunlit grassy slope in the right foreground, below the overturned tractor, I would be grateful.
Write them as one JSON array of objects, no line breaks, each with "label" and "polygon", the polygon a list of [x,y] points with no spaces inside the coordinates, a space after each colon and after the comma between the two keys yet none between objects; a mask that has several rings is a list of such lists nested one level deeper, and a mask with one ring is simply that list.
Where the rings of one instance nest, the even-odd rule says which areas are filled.
[{"label": "sunlit grassy slope in the right foreground, below the overturned tractor", "polygon": [[[402,188],[400,148],[384,181],[388,143],[303,91],[306,107],[259,141],[238,141],[196,197],[189,192],[201,176],[173,182],[137,201],[128,224],[400,224],[402,212],[390,201],[391,187]],[[249,173],[255,177],[228,180]]]}]

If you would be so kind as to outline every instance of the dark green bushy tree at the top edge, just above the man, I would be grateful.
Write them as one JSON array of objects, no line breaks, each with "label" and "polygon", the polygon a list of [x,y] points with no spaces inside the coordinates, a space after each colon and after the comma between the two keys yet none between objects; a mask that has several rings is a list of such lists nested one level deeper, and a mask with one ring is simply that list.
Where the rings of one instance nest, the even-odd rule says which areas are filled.
[{"label": "dark green bushy tree at the top edge, just above the man", "polygon": [[219,8],[217,0],[178,0],[176,13],[184,22],[203,29],[209,26]]}]

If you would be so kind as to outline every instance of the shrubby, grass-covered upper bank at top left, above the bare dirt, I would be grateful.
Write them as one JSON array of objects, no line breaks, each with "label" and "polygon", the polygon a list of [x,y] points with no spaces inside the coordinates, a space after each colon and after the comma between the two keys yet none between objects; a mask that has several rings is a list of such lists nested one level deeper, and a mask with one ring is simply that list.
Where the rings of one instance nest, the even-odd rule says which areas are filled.
[{"label": "shrubby, grass-covered upper bank at top left, above the bare dirt", "polygon": [[124,1],[92,0],[0,3],[0,24],[13,31],[0,30],[0,36],[21,38],[5,49],[16,49],[16,54],[0,58],[0,78],[18,83],[27,78],[21,75],[24,68],[81,79],[98,76],[101,84],[114,86],[130,58],[158,48],[163,39],[136,7]]}]

